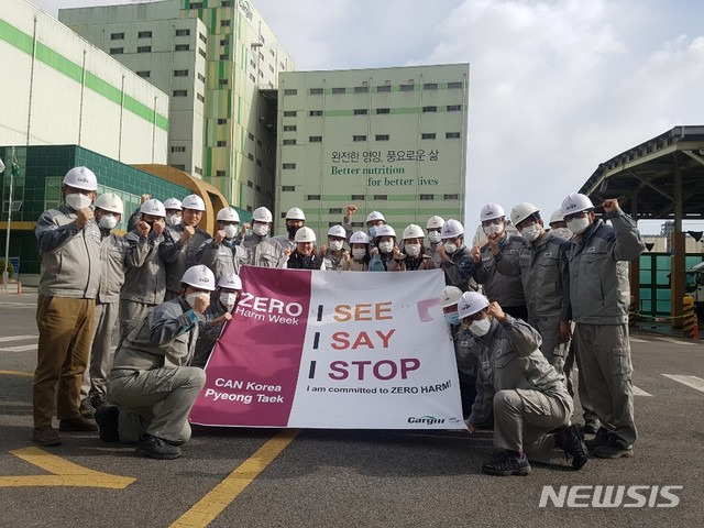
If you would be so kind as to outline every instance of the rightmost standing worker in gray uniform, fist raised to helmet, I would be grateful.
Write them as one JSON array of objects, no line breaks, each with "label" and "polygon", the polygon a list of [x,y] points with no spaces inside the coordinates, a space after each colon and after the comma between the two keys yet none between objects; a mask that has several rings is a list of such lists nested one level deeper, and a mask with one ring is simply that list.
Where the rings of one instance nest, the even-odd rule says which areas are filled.
[{"label": "rightmost standing worker in gray uniform, fist raised to helmet", "polygon": [[602,427],[586,442],[600,458],[631,457],[638,438],[634,421],[632,364],[628,341],[628,262],[645,249],[636,222],[605,200],[604,218],[594,205],[574,193],[562,201],[562,212],[574,233],[570,262],[570,298],[574,346],[580,374]]}]

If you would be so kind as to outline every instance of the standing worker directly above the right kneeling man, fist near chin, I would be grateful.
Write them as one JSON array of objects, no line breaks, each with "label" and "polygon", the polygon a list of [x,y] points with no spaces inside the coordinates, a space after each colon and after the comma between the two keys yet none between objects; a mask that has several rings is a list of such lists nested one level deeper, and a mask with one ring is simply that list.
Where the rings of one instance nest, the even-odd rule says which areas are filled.
[{"label": "standing worker directly above the right kneeling man, fist near chin", "polygon": [[502,305],[504,311],[526,321],[524,286],[516,274],[524,239],[506,232],[506,213],[498,204],[485,205],[480,221],[488,242],[481,249],[472,248],[476,264],[474,280],[484,286],[486,296]]}]

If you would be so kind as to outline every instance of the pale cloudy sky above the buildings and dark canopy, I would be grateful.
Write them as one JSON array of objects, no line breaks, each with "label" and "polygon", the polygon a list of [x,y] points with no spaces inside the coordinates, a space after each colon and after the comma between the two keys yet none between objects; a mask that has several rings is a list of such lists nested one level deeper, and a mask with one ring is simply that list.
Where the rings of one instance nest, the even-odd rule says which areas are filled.
[{"label": "pale cloudy sky above the buildings and dark canopy", "polygon": [[[129,3],[32,1],[55,16]],[[530,201],[549,217],[601,162],[704,124],[700,0],[252,3],[299,70],[470,63],[468,229],[488,201],[507,212]],[[659,226],[641,222],[644,232]]]}]

